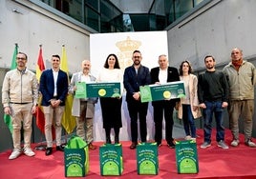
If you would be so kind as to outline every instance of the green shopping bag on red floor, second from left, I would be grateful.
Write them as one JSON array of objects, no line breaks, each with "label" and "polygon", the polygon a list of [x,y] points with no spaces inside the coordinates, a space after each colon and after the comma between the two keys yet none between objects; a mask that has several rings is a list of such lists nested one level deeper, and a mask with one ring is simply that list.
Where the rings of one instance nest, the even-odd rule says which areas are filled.
[{"label": "green shopping bag on red floor, second from left", "polygon": [[99,147],[100,174],[121,175],[123,171],[121,144],[104,144]]}]

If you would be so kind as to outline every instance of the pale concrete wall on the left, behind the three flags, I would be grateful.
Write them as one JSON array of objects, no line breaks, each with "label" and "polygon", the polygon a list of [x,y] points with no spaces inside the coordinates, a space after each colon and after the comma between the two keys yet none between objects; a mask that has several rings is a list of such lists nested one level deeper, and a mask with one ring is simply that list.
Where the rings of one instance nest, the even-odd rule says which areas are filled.
[{"label": "pale concrete wall on the left, behind the three flags", "polygon": [[14,43],[18,43],[20,51],[28,54],[27,66],[31,70],[36,68],[40,44],[43,45],[45,61],[51,60],[53,54],[61,55],[64,44],[71,72],[80,70],[80,62],[90,56],[89,31],[29,1],[0,1],[0,31],[0,68],[10,68]]}]

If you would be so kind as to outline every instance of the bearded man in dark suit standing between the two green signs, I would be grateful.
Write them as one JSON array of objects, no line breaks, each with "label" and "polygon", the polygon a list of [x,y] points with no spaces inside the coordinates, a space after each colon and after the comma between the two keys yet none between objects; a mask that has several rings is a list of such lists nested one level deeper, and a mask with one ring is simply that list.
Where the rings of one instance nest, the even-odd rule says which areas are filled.
[{"label": "bearded man in dark suit standing between the two green signs", "polygon": [[139,50],[133,52],[132,60],[134,64],[124,70],[123,84],[127,91],[126,102],[131,118],[132,144],[130,149],[136,149],[138,145],[138,114],[141,142],[146,142],[147,137],[146,115],[148,103],[140,102],[139,86],[149,85],[151,80],[149,69],[140,64],[142,56]]}]

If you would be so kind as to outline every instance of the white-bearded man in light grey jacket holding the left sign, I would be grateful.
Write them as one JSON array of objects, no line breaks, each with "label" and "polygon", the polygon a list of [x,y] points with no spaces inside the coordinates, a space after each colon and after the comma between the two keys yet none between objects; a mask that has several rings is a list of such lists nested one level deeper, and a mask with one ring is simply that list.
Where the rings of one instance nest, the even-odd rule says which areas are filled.
[{"label": "white-bearded man in light grey jacket holding the left sign", "polygon": [[[82,61],[82,71],[73,74],[71,79],[70,93],[75,95],[79,82],[95,82],[96,77],[90,74],[91,62],[89,60]],[[75,98],[73,101],[72,115],[76,118],[76,134],[87,142],[88,148],[93,150],[96,146],[93,145],[94,134],[94,115],[95,115],[96,98]]]}]

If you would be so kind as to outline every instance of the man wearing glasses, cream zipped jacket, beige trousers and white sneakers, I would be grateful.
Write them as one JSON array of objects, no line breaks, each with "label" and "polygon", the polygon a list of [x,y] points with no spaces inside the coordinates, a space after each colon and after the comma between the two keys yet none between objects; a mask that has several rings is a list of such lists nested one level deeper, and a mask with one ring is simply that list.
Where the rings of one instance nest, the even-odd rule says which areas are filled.
[{"label": "man wearing glasses, cream zipped jacket, beige trousers and white sneakers", "polygon": [[[31,149],[32,114],[35,112],[38,100],[38,85],[35,74],[26,68],[28,56],[18,52],[16,56],[17,69],[7,72],[2,88],[2,103],[4,112],[11,115],[13,150],[10,160],[21,153],[21,128],[24,129],[24,149],[27,156],[33,156]],[[22,125],[23,124],[23,125]]]}]

